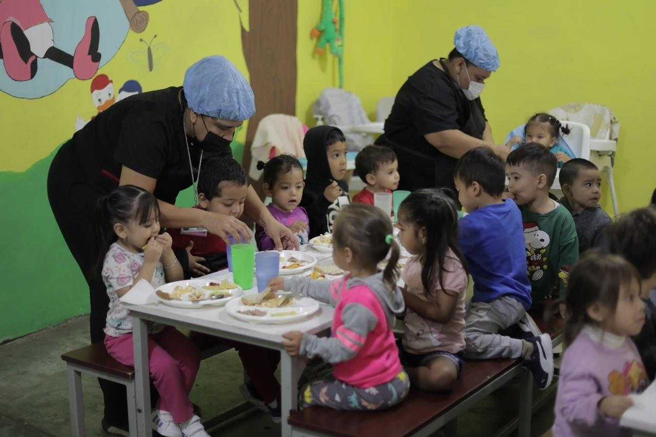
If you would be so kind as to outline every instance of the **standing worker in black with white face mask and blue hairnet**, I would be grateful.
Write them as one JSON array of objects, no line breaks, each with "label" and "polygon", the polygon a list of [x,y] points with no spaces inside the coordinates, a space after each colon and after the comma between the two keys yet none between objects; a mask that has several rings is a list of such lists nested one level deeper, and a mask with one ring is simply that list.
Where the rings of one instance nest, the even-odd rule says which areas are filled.
[{"label": "standing worker in black with white face mask and blue hairnet", "polygon": [[497,49],[479,26],[457,30],[454,43],[449,58],[432,60],[408,77],[378,140],[396,152],[401,190],[455,190],[455,163],[477,146],[508,155],[508,148],[494,144],[479,98],[485,79],[499,68]]}]

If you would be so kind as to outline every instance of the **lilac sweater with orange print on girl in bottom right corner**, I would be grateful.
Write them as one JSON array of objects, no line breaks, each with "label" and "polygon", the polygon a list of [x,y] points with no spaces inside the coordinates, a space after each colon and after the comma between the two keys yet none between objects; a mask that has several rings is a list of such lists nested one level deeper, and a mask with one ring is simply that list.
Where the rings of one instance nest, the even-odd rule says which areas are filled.
[{"label": "lilac sweater with orange print on girl in bottom right corner", "polygon": [[605,417],[598,404],[605,396],[639,393],[647,385],[649,379],[633,341],[587,325],[565,350],[554,436],[630,436],[619,426],[619,419]]}]

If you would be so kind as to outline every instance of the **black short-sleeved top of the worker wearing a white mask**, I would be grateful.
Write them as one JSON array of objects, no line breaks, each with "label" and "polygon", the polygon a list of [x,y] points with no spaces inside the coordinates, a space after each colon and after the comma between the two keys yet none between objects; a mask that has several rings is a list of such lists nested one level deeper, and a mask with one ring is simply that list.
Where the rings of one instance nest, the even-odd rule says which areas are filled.
[{"label": "black short-sleeved top of the worker wearing a white mask", "polygon": [[396,152],[400,190],[455,190],[453,169],[458,160],[443,154],[424,138],[426,134],[451,129],[482,139],[485,111],[480,98],[467,100],[449,73],[430,61],[408,77],[396,94],[392,112],[385,121],[385,133],[377,141]]}]

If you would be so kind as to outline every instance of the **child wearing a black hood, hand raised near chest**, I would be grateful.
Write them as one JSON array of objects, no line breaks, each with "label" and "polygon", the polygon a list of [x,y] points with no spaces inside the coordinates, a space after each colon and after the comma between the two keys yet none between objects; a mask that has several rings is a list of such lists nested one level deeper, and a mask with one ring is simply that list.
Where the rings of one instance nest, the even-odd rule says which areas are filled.
[{"label": "child wearing a black hood, hand raised near chest", "polygon": [[333,232],[333,222],[347,205],[346,138],[333,126],[312,127],[303,138],[303,150],[308,158],[308,171],[303,198],[310,218],[310,238]]}]

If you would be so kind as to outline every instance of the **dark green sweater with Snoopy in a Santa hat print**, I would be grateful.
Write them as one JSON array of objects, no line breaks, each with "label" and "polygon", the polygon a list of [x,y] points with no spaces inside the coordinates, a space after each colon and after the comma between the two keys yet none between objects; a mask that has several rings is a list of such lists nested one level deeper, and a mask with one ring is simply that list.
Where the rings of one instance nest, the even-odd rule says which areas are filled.
[{"label": "dark green sweater with Snoopy in a Santa hat print", "polygon": [[579,239],[574,220],[567,209],[556,207],[538,214],[522,206],[526,270],[531,281],[533,306],[539,306],[558,286],[558,296],[565,299],[569,269],[579,260]]}]

